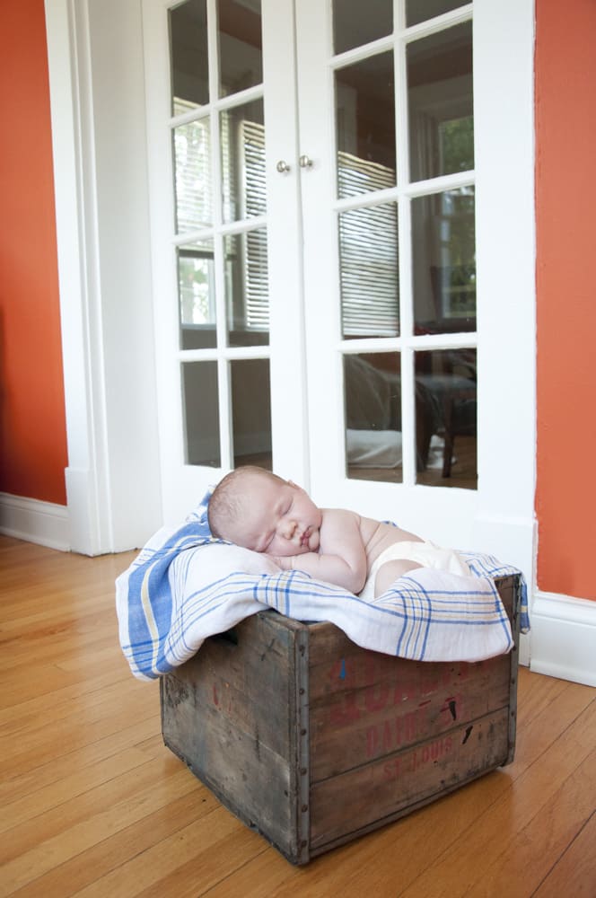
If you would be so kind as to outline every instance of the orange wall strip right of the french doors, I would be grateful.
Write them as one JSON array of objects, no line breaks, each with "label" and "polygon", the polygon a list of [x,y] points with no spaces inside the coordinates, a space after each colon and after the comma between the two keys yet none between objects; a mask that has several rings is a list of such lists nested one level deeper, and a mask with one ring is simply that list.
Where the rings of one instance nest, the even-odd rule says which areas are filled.
[{"label": "orange wall strip right of the french doors", "polygon": [[536,19],[538,585],[596,599],[596,3]]}]

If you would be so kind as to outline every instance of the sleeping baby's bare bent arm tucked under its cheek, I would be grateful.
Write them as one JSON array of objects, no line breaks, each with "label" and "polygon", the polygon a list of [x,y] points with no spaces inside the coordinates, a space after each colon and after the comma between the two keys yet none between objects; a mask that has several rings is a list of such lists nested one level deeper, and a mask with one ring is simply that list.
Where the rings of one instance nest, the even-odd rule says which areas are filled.
[{"label": "sleeping baby's bare bent arm tucked under its cheek", "polygon": [[359,593],[366,580],[360,518],[351,511],[326,508],[320,528],[320,551],[274,560],[284,570],[303,570],[318,580],[329,580],[351,593]]}]

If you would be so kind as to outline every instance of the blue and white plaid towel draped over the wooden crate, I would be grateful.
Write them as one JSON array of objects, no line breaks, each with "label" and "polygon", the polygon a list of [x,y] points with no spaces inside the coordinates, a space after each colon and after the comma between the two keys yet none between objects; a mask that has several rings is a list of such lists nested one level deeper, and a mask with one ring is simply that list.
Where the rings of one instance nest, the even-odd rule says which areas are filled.
[{"label": "blue and white plaid towel draped over the wooden crate", "polygon": [[267,608],[297,621],[331,621],[363,648],[416,661],[481,661],[513,647],[493,578],[519,573],[516,568],[461,552],[474,576],[416,568],[364,602],[301,571],[281,571],[266,555],[215,540],[206,520],[209,495],[179,529],[155,533],[116,581],[120,645],[139,679],[167,674],[208,636]]}]

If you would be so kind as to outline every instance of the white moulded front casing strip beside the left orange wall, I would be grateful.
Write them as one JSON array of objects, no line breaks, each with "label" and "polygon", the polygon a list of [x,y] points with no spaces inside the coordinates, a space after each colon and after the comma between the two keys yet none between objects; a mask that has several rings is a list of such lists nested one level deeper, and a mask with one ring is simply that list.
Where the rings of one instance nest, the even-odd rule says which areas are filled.
[{"label": "white moulded front casing strip beside the left orange wall", "polygon": [[96,210],[87,4],[46,0],[45,12],[68,462],[70,469],[85,471],[91,487],[78,490],[74,504],[72,494],[67,501],[75,518],[83,522],[77,528],[74,550],[95,555],[110,548],[111,536],[102,501],[106,472],[100,452],[105,422],[101,395],[97,395],[101,380],[95,379],[93,339],[97,246],[93,240]]}]

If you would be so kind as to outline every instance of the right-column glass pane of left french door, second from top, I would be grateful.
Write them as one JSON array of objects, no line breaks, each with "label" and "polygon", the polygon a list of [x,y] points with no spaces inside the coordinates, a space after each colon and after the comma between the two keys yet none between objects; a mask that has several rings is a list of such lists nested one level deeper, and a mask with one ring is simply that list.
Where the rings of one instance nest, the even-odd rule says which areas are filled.
[{"label": "right-column glass pane of left french door, second from top", "polygon": [[265,126],[263,101],[220,113],[223,221],[265,215]]}]

